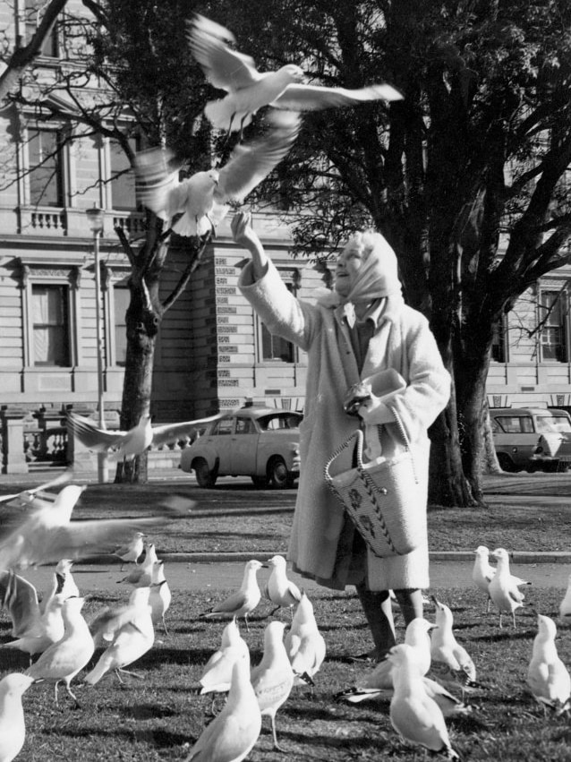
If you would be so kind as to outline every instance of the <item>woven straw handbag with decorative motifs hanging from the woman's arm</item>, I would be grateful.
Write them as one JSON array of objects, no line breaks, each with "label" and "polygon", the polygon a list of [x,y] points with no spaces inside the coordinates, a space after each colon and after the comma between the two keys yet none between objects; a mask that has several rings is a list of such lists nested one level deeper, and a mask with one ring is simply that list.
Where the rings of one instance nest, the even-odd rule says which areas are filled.
[{"label": "woven straw handbag with decorative motifs hanging from the woman's arm", "polygon": [[[398,418],[396,423],[406,449],[395,458],[363,464],[364,436],[358,430],[337,448],[325,466],[325,479],[331,492],[341,501],[357,531],[379,558],[410,553],[423,539],[422,526],[416,520],[416,508],[423,500],[421,487],[405,430]],[[355,441],[357,466],[332,476],[333,463],[352,441]]]}]

